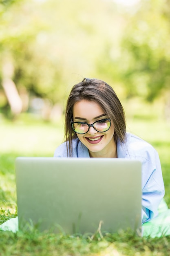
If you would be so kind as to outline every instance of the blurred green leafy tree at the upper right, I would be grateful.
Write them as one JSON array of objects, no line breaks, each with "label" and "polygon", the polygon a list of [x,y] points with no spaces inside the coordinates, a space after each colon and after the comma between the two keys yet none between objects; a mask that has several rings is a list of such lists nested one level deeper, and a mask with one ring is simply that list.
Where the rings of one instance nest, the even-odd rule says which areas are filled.
[{"label": "blurred green leafy tree at the upper right", "polygon": [[143,0],[124,29],[121,79],[128,97],[152,102],[170,90],[170,0]]}]

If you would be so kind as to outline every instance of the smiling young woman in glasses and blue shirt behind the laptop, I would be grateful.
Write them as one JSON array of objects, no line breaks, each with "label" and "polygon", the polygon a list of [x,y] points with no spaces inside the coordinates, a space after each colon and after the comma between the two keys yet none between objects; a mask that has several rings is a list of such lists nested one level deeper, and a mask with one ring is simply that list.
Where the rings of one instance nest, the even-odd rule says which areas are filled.
[{"label": "smiling young woman in glasses and blue shirt behind the laptop", "polygon": [[124,109],[104,81],[83,79],[73,86],[65,115],[65,139],[54,157],[115,157],[142,163],[142,223],[158,214],[164,196],[159,156],[146,141],[126,132]]}]

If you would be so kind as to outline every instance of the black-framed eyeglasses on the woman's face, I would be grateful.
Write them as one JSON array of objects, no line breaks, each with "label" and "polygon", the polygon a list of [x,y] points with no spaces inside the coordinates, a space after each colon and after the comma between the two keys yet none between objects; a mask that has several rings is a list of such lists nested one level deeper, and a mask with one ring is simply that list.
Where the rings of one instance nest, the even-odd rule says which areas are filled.
[{"label": "black-framed eyeglasses on the woman's face", "polygon": [[87,124],[85,122],[73,122],[71,119],[70,123],[76,133],[85,134],[89,131],[90,127],[93,127],[97,132],[106,132],[110,128],[111,120],[107,118],[96,121],[93,124]]}]

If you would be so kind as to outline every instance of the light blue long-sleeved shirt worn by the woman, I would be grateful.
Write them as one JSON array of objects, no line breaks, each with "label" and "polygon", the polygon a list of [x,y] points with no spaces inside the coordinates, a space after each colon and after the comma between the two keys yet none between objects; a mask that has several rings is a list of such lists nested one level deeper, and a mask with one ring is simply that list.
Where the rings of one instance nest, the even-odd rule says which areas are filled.
[{"label": "light blue long-sleeved shirt worn by the woman", "polygon": [[[73,157],[90,157],[88,148],[73,139]],[[54,157],[67,157],[66,142],[56,148]],[[117,142],[117,157],[139,160],[142,163],[142,223],[157,216],[158,206],[165,194],[161,164],[155,148],[143,139],[126,134],[126,141]]]}]

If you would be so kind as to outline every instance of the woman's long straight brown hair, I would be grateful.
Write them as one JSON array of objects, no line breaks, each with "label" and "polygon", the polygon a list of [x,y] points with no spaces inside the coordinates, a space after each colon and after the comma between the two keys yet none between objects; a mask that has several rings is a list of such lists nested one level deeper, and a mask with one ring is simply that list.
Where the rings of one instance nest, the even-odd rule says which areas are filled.
[{"label": "woman's long straight brown hair", "polygon": [[65,140],[67,141],[67,154],[69,156],[72,155],[72,139],[77,137],[70,123],[73,118],[73,106],[83,99],[95,101],[95,103],[99,104],[106,115],[113,121],[115,143],[117,144],[118,138],[121,142],[124,142],[126,133],[125,113],[115,91],[102,80],[84,78],[82,82],[73,86],[66,104]]}]

